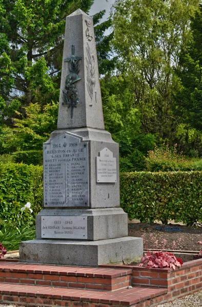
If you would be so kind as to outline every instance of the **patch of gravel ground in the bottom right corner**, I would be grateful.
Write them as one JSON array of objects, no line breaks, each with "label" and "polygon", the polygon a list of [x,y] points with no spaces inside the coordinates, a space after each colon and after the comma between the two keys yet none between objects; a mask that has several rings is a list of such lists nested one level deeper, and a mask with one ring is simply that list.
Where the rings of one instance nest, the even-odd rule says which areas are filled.
[{"label": "patch of gravel ground in the bottom right corner", "polygon": [[201,307],[202,291],[175,299],[172,303],[165,303],[157,307]]}]

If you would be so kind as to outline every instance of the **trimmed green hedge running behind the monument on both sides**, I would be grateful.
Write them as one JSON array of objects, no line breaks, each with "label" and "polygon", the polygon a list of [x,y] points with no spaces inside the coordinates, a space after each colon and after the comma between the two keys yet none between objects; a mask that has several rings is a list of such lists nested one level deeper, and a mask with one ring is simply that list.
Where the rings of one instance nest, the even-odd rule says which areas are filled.
[{"label": "trimmed green hedge running behind the monument on both sides", "polygon": [[[201,171],[120,173],[120,203],[131,220],[192,225],[202,222],[201,186]],[[35,218],[43,207],[43,167],[1,162],[0,218],[28,225],[29,214],[21,214],[27,202]]]}]

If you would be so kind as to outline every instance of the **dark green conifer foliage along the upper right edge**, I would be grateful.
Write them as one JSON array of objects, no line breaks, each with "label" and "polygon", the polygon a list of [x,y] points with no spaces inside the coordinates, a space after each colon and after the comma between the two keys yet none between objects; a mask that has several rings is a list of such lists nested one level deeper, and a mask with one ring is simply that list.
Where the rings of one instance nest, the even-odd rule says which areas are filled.
[{"label": "dark green conifer foliage along the upper right edge", "polygon": [[202,129],[202,4],[191,20],[192,37],[180,52],[177,73],[181,87],[176,91],[177,112],[185,123]]}]

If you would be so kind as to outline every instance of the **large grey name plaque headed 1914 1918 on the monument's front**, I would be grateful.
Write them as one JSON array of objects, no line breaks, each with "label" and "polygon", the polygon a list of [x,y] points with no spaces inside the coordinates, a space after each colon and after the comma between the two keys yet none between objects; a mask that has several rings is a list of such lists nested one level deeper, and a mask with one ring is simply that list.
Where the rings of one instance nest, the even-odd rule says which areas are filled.
[{"label": "large grey name plaque headed 1914 1918 on the monument's front", "polygon": [[44,207],[88,207],[88,142],[64,133],[44,143]]}]

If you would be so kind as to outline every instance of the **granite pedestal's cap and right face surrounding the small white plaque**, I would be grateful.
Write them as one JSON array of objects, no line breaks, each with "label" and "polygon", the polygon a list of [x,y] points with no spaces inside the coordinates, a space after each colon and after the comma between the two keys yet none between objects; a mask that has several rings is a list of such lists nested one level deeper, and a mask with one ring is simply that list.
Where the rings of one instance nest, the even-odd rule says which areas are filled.
[{"label": "granite pedestal's cap and right face surrounding the small white plaque", "polygon": [[[88,142],[89,144],[89,207],[119,207],[119,152],[118,144],[112,140],[111,134],[106,130],[93,128],[61,129],[53,131],[51,138],[54,138],[61,133],[65,133],[65,131],[69,131],[74,135],[82,137],[82,141]],[[112,183],[97,183],[96,157],[98,157],[99,152],[106,147],[113,152],[113,157],[116,158],[117,180]]]}]

